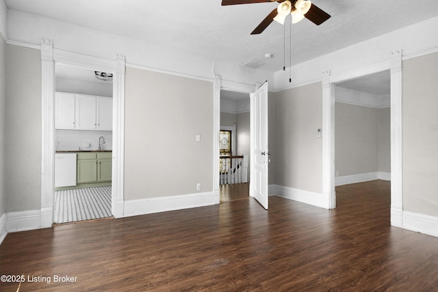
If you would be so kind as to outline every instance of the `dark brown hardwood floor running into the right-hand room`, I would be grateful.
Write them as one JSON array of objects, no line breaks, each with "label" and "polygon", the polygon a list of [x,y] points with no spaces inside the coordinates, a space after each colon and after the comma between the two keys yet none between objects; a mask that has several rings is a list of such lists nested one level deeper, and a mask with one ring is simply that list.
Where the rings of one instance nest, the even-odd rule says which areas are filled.
[{"label": "dark brown hardwood floor running into the right-hand room", "polygon": [[0,275],[24,275],[19,291],[438,291],[438,238],[390,226],[389,187],[339,187],[333,210],[248,198],[10,233]]}]

